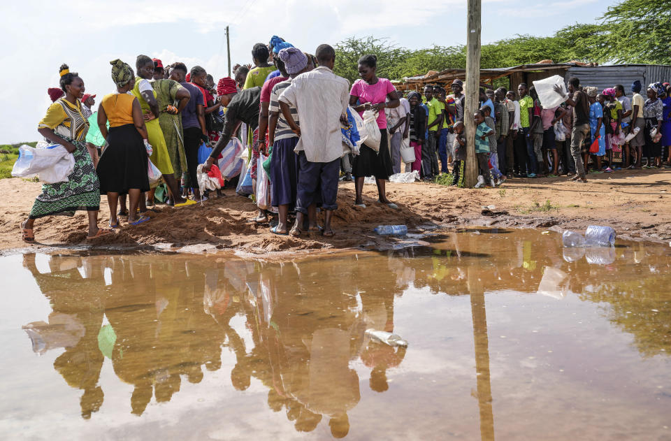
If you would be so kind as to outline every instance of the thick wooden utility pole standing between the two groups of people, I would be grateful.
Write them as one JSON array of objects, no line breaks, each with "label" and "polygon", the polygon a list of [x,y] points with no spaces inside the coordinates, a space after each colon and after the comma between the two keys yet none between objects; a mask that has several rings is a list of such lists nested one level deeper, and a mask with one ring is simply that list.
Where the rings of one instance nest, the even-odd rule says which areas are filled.
[{"label": "thick wooden utility pole standing between the two groups of people", "polygon": [[477,182],[475,157],[475,123],[473,113],[479,108],[480,88],[480,15],[481,0],[468,0],[468,26],[466,31],[466,102],[463,121],[466,126],[466,173],[464,185],[473,187]]}]

